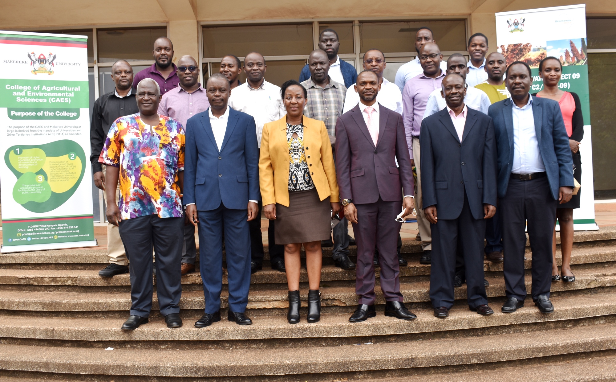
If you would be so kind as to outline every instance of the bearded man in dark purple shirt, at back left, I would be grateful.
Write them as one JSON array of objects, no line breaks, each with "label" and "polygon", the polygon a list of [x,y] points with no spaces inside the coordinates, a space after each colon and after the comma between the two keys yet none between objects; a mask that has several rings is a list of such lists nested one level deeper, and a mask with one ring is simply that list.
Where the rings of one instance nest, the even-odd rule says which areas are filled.
[{"label": "bearded man in dark purple shirt, at back left", "polygon": [[135,75],[135,81],[132,83],[134,91],[137,91],[137,84],[144,78],[152,78],[160,87],[160,95],[171,91],[180,83],[180,78],[177,76],[176,65],[171,62],[173,60],[173,43],[166,37],[159,37],[154,41],[154,63],[151,67],[144,69]]}]

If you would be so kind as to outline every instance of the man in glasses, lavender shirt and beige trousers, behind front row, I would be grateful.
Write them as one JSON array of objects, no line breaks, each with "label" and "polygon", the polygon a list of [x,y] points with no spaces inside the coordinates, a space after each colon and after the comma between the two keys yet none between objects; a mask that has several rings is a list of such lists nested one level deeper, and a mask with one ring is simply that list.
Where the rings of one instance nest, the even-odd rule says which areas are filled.
[{"label": "man in glasses, lavender shirt and beige trousers, behind front row", "polygon": [[428,97],[434,89],[440,89],[445,72],[440,69],[443,55],[435,43],[426,43],[419,48],[419,63],[423,73],[407,81],[402,92],[402,107],[404,129],[407,134],[408,152],[411,166],[416,171],[415,211],[417,211],[417,226],[421,237],[421,248],[424,253],[419,259],[420,264],[430,264],[432,258],[432,236],[430,223],[423,214],[421,203],[421,170],[419,169],[419,128],[426,111]]}]

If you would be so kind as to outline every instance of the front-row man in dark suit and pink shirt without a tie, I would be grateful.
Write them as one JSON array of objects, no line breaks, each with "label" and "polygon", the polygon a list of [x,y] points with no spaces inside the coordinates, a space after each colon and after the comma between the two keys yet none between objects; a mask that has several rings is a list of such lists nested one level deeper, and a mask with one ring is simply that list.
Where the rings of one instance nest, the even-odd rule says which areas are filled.
[{"label": "front-row man in dark suit and pink shirt without a tie", "polygon": [[441,87],[447,107],[423,120],[419,138],[424,214],[432,230],[430,299],[435,317],[449,315],[459,240],[469,309],[489,315],[483,249],[485,219],[496,212],[494,126],[464,105],[462,76],[447,75]]}]

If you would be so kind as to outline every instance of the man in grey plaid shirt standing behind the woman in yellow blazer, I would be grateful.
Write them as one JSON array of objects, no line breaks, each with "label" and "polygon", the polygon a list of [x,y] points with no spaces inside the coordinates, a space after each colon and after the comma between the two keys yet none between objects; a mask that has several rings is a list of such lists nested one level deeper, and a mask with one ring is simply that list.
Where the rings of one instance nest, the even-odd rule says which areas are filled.
[{"label": "man in grey plaid shirt standing behind the woman in yellow blazer", "polygon": [[[304,115],[325,123],[327,132],[330,135],[331,144],[336,142],[336,121],[342,115],[344,106],[344,96],[346,87],[333,81],[328,72],[330,70],[330,60],[325,51],[316,49],[310,53],[308,59],[310,78],[302,82],[302,86],[308,91],[308,103],[304,108]],[[333,147],[332,147],[333,151]],[[336,153],[334,152],[334,157]],[[354,269],[355,264],[349,259],[349,222],[342,219],[333,229],[333,243],[330,240],[323,240],[322,246],[334,246],[332,258],[336,266],[342,269]]]}]

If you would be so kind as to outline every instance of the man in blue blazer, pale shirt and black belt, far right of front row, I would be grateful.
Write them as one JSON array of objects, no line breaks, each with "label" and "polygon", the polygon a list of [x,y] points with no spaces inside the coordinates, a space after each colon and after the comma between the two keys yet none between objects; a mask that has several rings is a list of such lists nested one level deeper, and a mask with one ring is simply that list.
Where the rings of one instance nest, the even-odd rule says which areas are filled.
[{"label": "man in blue blazer, pale shirt and black belt, far right of front row", "polygon": [[551,313],[552,233],[556,206],[571,199],[573,160],[558,102],[529,94],[530,67],[511,63],[505,72],[511,98],[492,104],[498,152],[498,208],[505,251],[505,294],[501,311],[524,306],[524,250],[532,250],[532,298],[541,313]]}]

